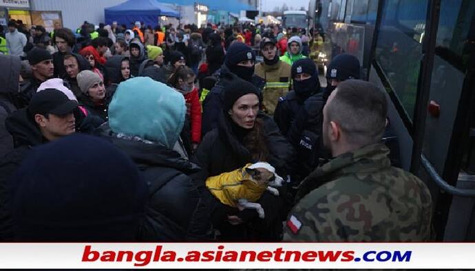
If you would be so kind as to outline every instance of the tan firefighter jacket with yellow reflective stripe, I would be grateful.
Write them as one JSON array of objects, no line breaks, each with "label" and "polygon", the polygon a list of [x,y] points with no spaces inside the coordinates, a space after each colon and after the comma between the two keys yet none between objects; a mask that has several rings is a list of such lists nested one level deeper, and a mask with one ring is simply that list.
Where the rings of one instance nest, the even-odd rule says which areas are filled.
[{"label": "tan firefighter jacket with yellow reflective stripe", "polygon": [[255,65],[254,74],[266,80],[266,86],[262,91],[263,111],[273,115],[279,98],[286,96],[290,87],[291,66],[283,61],[275,65],[259,63]]}]

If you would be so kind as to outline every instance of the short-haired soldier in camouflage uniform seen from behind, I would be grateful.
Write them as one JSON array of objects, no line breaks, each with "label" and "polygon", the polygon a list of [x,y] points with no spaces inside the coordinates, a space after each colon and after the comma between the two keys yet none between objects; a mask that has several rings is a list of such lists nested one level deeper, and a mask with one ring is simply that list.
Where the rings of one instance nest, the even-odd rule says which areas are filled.
[{"label": "short-haired soldier in camouflage uniform seen from behind", "polygon": [[324,145],[334,157],[299,186],[285,241],[427,241],[432,199],[390,165],[381,142],[387,102],[376,86],[340,83],[324,107]]}]

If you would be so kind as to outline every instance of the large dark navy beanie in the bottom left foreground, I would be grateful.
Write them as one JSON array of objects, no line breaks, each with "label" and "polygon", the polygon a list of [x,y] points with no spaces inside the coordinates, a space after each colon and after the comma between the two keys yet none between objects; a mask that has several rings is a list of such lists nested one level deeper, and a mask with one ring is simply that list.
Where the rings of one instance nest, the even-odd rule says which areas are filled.
[{"label": "large dark navy beanie in the bottom left foreground", "polygon": [[33,149],[10,195],[21,241],[135,241],[148,198],[128,155],[84,134]]}]

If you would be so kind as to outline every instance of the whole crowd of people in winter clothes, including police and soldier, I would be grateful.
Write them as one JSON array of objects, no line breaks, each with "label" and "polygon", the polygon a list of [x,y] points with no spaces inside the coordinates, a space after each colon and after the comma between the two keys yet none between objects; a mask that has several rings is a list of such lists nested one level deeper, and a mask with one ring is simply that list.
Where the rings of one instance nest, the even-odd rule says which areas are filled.
[{"label": "whole crowd of people in winter clothes, including police and soldier", "polygon": [[[309,37],[278,25],[23,32],[0,54],[0,240],[430,240],[430,193],[355,56],[321,87]],[[284,180],[265,216],[207,186],[259,162]]]}]

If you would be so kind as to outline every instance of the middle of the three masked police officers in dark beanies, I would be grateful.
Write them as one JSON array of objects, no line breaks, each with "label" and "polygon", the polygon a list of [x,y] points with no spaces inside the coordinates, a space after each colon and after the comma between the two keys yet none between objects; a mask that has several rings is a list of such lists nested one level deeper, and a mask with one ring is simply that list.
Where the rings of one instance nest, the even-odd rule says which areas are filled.
[{"label": "middle of the three masked police officers in dark beanies", "polygon": [[295,116],[302,110],[304,102],[320,91],[317,66],[309,58],[303,58],[292,65],[293,90],[279,98],[274,120],[283,135],[287,135]]}]

